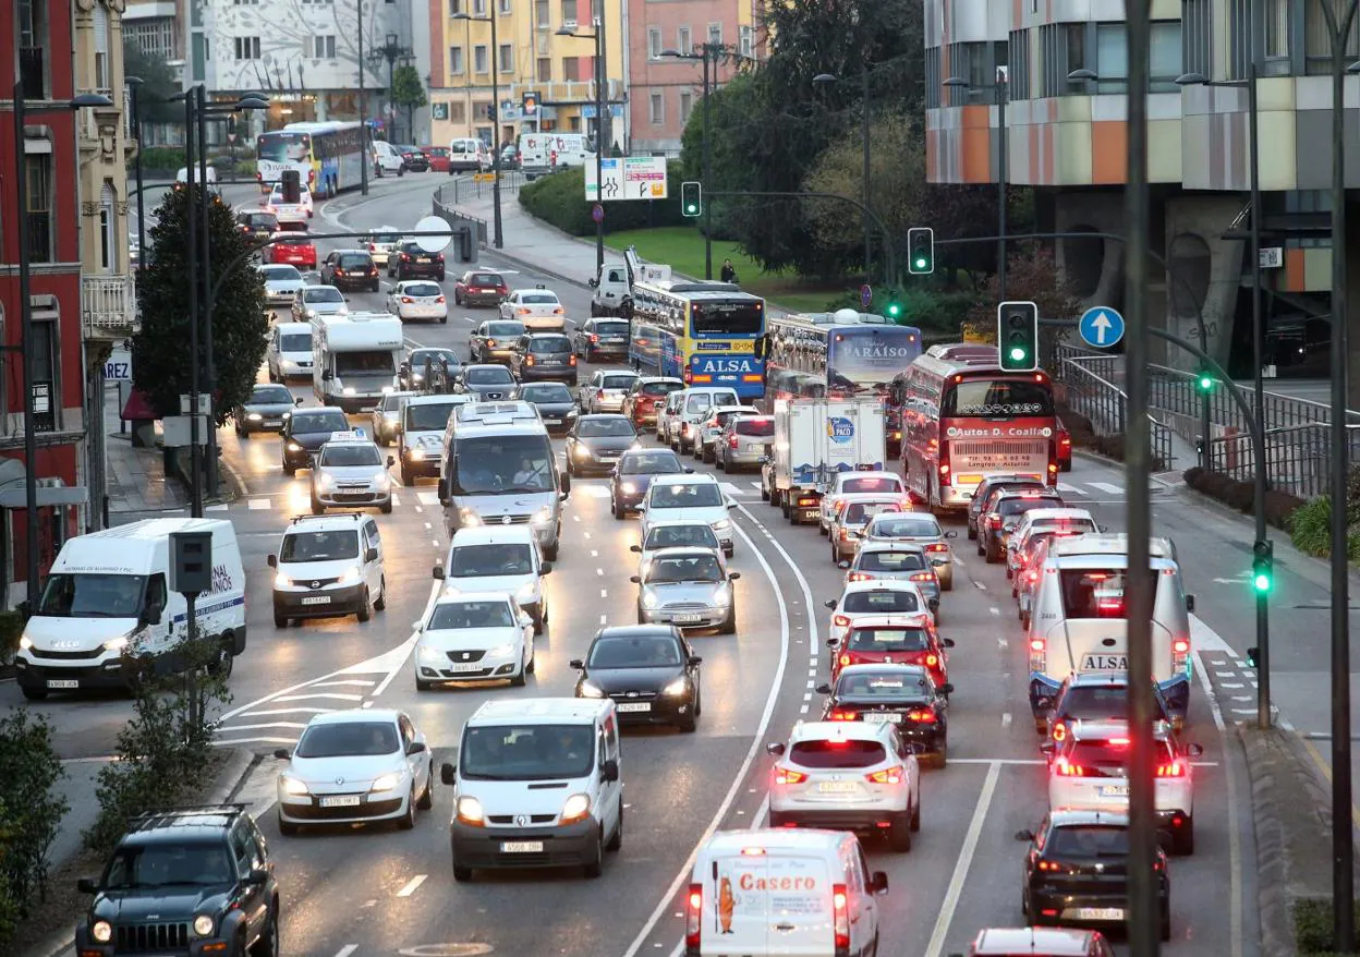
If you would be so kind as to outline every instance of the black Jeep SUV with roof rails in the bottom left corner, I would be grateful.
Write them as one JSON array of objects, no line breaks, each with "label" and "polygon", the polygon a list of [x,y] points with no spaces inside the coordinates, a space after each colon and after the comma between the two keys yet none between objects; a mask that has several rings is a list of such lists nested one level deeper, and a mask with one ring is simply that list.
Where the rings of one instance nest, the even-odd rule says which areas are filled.
[{"label": "black Jeep SUV with roof rails in the bottom left corner", "polygon": [[128,822],[76,926],[76,953],[276,957],[279,882],[245,805],[150,812]]}]

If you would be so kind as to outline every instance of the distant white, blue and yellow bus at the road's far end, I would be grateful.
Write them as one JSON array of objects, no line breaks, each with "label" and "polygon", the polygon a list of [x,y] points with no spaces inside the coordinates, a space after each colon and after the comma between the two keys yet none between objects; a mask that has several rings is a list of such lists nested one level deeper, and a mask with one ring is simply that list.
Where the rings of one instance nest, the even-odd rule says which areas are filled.
[{"label": "distant white, blue and yellow bus at the road's far end", "polygon": [[256,181],[265,193],[296,170],[313,196],[329,198],[359,186],[363,163],[358,122],[290,122],[256,137]]}]

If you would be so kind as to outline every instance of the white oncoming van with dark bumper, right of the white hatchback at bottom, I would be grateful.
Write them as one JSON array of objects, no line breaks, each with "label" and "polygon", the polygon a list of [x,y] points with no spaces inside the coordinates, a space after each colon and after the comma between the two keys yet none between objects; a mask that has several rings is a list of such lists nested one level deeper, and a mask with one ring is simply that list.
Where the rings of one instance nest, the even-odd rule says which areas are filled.
[{"label": "white oncoming van with dark bumper, right of the white hatchback at bottom", "polygon": [[579,866],[623,846],[619,719],[611,699],[487,701],[439,778],[453,787],[453,880],[473,870]]}]

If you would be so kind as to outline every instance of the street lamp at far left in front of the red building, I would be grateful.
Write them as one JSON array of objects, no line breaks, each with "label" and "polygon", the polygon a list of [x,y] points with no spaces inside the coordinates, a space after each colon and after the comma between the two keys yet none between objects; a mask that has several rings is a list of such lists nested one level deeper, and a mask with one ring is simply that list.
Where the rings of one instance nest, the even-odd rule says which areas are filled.
[{"label": "street lamp at far left in front of the red building", "polygon": [[[58,113],[95,106],[113,106],[113,101],[97,92],[83,92],[69,101],[41,106],[34,113]],[[30,292],[31,264],[29,262],[29,170],[24,151],[24,125],[29,110],[23,98],[23,80],[14,84],[14,152],[15,152],[15,207],[19,218],[19,351],[23,362],[23,544],[27,555],[29,614],[38,610],[38,424],[34,417],[33,377],[33,300]],[[49,393],[48,402],[58,401]],[[50,405],[49,405],[50,408]]]}]

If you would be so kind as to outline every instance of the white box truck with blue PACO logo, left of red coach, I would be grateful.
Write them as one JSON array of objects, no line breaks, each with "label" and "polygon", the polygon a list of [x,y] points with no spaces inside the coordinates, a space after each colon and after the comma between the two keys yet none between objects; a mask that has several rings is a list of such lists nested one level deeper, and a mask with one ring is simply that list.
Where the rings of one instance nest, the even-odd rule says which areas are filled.
[{"label": "white box truck with blue PACO logo, left of red coach", "polygon": [[877,397],[777,400],[774,454],[760,469],[762,498],[794,525],[819,521],[821,496],[836,473],[883,470],[883,416]]}]

